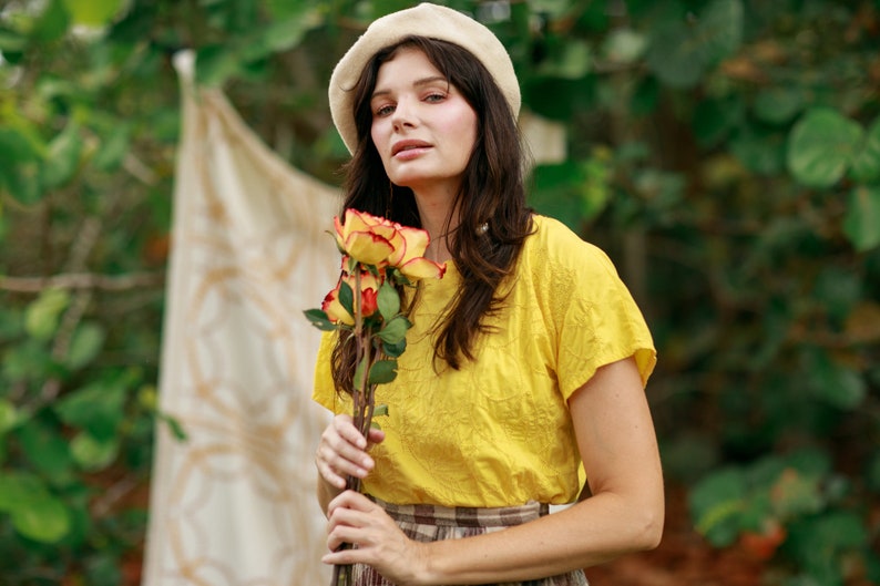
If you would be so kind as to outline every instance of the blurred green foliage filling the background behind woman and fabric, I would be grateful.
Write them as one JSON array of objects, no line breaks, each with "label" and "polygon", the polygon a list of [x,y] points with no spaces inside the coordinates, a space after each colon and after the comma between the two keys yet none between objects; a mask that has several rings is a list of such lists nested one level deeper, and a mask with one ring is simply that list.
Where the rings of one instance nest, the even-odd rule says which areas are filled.
[{"label": "blurred green foliage filling the background behind woman and fabric", "polygon": [[[2,584],[124,582],[146,522],[180,131],[195,49],[264,140],[329,183],[355,0],[0,8]],[[880,583],[880,2],[446,2],[504,41],[569,157],[532,204],[604,247],[661,366],[667,476],[766,582]],[[763,541],[761,541],[763,539]]]}]

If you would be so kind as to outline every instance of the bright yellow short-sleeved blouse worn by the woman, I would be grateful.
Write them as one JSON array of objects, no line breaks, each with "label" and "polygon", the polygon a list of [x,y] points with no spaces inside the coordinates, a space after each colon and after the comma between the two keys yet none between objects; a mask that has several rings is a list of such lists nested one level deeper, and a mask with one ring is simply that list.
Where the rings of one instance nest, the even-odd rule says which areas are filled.
[{"label": "bright yellow short-sleeved blouse worn by the woman", "polygon": [[[397,504],[513,506],[573,502],[580,453],[567,399],[600,367],[635,357],[643,383],[656,363],[651,333],[607,256],[563,224],[534,217],[495,330],[456,371],[433,367],[431,326],[460,281],[450,263],[422,295],[398,360],[397,379],[377,388],[388,405],[386,440],[370,455],[365,492]],[[506,290],[506,289],[505,289]],[[318,352],[314,399],[350,412],[332,385],[335,335]]]}]

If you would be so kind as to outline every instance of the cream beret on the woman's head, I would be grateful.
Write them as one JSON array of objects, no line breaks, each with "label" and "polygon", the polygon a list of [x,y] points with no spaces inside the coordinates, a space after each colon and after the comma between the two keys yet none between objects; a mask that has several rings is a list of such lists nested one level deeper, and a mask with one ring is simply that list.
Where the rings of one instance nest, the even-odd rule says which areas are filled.
[{"label": "cream beret on the woman's head", "polygon": [[421,3],[375,20],[342,55],[330,75],[330,113],[349,153],[358,144],[354,90],[364,68],[386,47],[418,35],[467,49],[494,78],[514,116],[520,112],[520,84],[504,45],[483,24],[451,8]]}]

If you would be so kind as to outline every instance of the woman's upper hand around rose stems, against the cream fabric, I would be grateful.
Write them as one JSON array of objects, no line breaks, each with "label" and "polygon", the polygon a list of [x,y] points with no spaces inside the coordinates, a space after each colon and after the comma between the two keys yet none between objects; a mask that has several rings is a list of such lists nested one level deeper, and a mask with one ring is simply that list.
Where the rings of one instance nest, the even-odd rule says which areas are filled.
[{"label": "woman's upper hand around rose stems, against the cream fabric", "polygon": [[336,415],[324,430],[315,454],[318,474],[336,493],[344,491],[347,476],[364,479],[370,473],[375,462],[367,451],[382,440],[381,430],[371,429],[369,438],[364,438],[351,415]]}]

